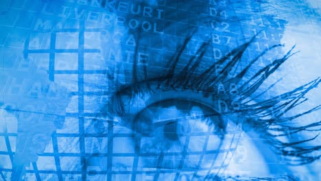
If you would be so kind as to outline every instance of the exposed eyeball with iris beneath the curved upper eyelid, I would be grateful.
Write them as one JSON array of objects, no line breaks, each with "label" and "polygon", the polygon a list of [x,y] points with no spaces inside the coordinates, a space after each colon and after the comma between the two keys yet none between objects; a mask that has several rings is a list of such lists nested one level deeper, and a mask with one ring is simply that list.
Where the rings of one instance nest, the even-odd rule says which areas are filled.
[{"label": "exposed eyeball with iris beneath the curved upper eyelid", "polygon": [[[164,160],[158,161],[158,168],[189,174],[193,169],[200,169],[217,174],[219,162],[224,165],[228,159],[224,157],[230,156],[229,150],[235,149],[239,133],[233,132],[236,126],[232,121],[225,123],[229,125],[226,128],[223,118],[209,115],[213,112],[215,110],[198,102],[171,99],[152,104],[136,114],[130,121],[135,132],[135,153],[141,158],[150,158],[142,161],[138,169],[156,167],[158,156],[163,155]],[[186,156],[184,162],[178,156]],[[202,162],[195,160],[199,156],[203,158]]]}]

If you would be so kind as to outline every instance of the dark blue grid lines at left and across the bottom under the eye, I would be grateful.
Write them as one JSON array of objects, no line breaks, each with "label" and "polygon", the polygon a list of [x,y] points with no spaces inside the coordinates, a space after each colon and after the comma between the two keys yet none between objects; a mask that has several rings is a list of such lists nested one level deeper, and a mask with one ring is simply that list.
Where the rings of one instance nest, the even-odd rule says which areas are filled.
[{"label": "dark blue grid lines at left and across the bottom under the eye", "polygon": [[[24,58],[27,58],[28,56],[36,53],[49,53],[49,80],[54,82],[56,75],[60,74],[77,74],[78,75],[78,89],[72,93],[72,95],[77,96],[78,99],[78,110],[76,112],[67,112],[66,117],[78,117],[78,132],[77,133],[70,133],[70,132],[54,132],[52,134],[52,152],[45,152],[43,154],[38,154],[39,160],[37,162],[32,162],[31,165],[22,165],[19,168],[15,169],[16,173],[19,173],[18,176],[15,176],[14,179],[19,179],[19,177],[23,176],[27,178],[27,180],[72,180],[72,179],[82,179],[86,180],[87,178],[91,180],[97,180],[102,178],[97,178],[95,175],[101,175],[103,176],[103,180],[121,180],[124,178],[130,177],[131,180],[136,180],[139,178],[147,178],[150,180],[163,180],[167,177],[172,178],[173,180],[181,180],[182,177],[184,177],[184,173],[187,171],[192,171],[194,173],[195,178],[197,178],[198,171],[206,171],[207,173],[211,173],[211,171],[215,170],[217,173],[224,172],[224,168],[228,165],[227,162],[224,162],[224,160],[228,160],[227,157],[230,155],[228,153],[232,153],[235,151],[235,142],[238,141],[238,138],[235,138],[235,132],[231,132],[230,135],[231,141],[229,145],[226,145],[227,147],[222,147],[222,143],[220,143],[218,150],[215,151],[209,151],[207,150],[207,143],[209,142],[209,137],[212,132],[205,132],[204,136],[206,136],[206,140],[204,141],[204,147],[202,150],[198,152],[172,152],[172,153],[165,153],[161,154],[160,156],[154,156],[154,154],[150,153],[144,153],[141,149],[141,137],[134,135],[132,133],[114,133],[114,122],[107,121],[108,123],[108,132],[104,132],[103,134],[97,133],[97,132],[86,132],[86,117],[95,117],[99,115],[97,112],[89,113],[84,112],[84,96],[86,95],[95,95],[95,93],[85,92],[84,91],[84,75],[86,74],[94,74],[94,73],[106,73],[105,71],[90,71],[90,70],[84,70],[84,53],[99,53],[99,49],[86,49],[85,43],[84,43],[84,34],[85,32],[99,32],[100,29],[88,29],[85,28],[84,21],[80,21],[80,25],[78,29],[59,29],[54,32],[50,33],[50,45],[49,49],[29,49],[29,38],[25,41],[25,47],[23,51]],[[78,47],[76,49],[58,49],[57,48],[57,34],[61,33],[78,33]],[[57,56],[56,53],[75,53],[78,56],[78,70],[56,70],[55,64],[57,64]],[[8,147],[8,152],[3,152],[1,154],[9,154],[10,160],[13,164],[13,156],[14,152],[12,152],[10,148],[10,141],[9,136],[16,136],[16,134],[8,134],[6,132],[3,133],[3,136],[5,136],[5,143]],[[185,140],[185,147],[189,147],[189,141],[192,138],[192,135],[187,136]],[[61,144],[65,144],[67,146],[68,142],[61,142],[66,140],[67,138],[71,138],[70,140],[75,140],[77,144],[75,145],[75,149],[79,147],[79,150],[76,150],[75,152],[61,152],[60,149],[62,149]],[[105,153],[94,153],[92,150],[87,150],[86,147],[86,139],[87,138],[107,138],[106,143],[107,145],[107,152]],[[118,139],[117,139],[118,138]],[[135,143],[135,149],[134,152],[130,153],[121,153],[116,152],[115,148],[113,148],[113,145],[120,143],[119,140],[122,138],[130,138],[134,140]],[[115,142],[115,140],[117,140]],[[101,141],[101,140],[100,140]],[[70,142],[69,142],[70,143]],[[98,144],[102,144],[102,142]],[[232,145],[234,147],[232,147]],[[224,155],[220,155],[219,153],[227,153]],[[176,156],[177,154],[181,154],[178,169],[177,170],[171,170],[171,169],[162,169],[164,166],[165,160],[172,159],[173,156]],[[198,169],[197,171],[193,171],[193,169],[187,169],[186,166],[186,160],[189,160],[193,158],[193,156],[200,155],[200,158],[198,158],[198,167],[202,165],[203,157],[206,156],[206,154],[214,154],[213,160],[219,160],[217,157],[221,156],[222,163],[221,165],[215,165],[215,161],[212,161],[212,165],[209,168],[205,169]],[[101,168],[98,168],[98,171],[93,169],[89,169],[89,167],[86,167],[88,164],[88,160],[91,159],[93,156],[102,158],[105,160],[106,158],[106,169],[102,170]],[[191,158],[189,158],[191,156]],[[116,158],[133,158],[133,165],[132,168],[129,170],[123,170],[115,167],[115,165],[112,164],[113,160]],[[148,169],[148,168],[140,168],[141,165],[139,165],[139,162],[142,158],[155,158],[157,159],[156,167],[154,169]],[[39,165],[41,165],[40,162],[45,162],[44,160],[51,159],[54,161],[54,167],[50,169],[39,169]],[[64,160],[64,158],[69,158],[69,160]],[[177,159],[177,158],[174,158]],[[195,158],[193,158],[195,159]],[[77,160],[76,162],[73,162],[73,160]],[[72,162],[72,164],[71,164]],[[66,165],[73,165],[73,167],[78,167],[78,169],[67,171],[65,168]],[[72,168],[71,168],[72,169]],[[10,178],[10,172],[11,169],[1,169],[1,178],[2,180],[9,180]],[[182,173],[182,174],[181,174]],[[89,176],[90,175],[90,176]],[[94,176],[93,176],[94,175]],[[165,178],[164,178],[165,177]],[[76,180],[77,180],[76,179]]]}]

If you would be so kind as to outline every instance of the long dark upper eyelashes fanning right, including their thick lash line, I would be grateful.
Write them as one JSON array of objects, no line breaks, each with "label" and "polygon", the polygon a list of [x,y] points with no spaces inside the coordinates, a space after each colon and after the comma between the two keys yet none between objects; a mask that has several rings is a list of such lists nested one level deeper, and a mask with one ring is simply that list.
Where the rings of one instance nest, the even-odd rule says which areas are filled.
[{"label": "long dark upper eyelashes fanning right, including their thick lash line", "polygon": [[[171,88],[174,90],[190,89],[193,91],[202,92],[206,96],[211,95],[213,96],[213,98],[215,98],[216,94],[213,85],[215,85],[218,82],[237,82],[237,84],[239,84],[241,81],[244,81],[244,77],[245,75],[247,75],[246,73],[250,70],[252,64],[254,64],[260,57],[264,56],[265,53],[271,51],[276,47],[283,46],[274,45],[270,47],[270,49],[263,50],[261,54],[257,56],[257,58],[254,58],[252,61],[250,61],[247,64],[247,66],[237,74],[236,77],[228,78],[226,75],[229,73],[229,71],[233,70],[232,68],[235,67],[237,65],[237,62],[241,60],[242,54],[246,51],[248,46],[255,40],[256,36],[253,36],[248,42],[233,49],[227,54],[227,56],[224,56],[217,62],[214,62],[213,65],[209,67],[209,69],[206,69],[202,73],[199,73],[198,76],[193,77],[193,79],[190,79],[189,77],[195,76],[193,74],[195,74],[195,69],[199,66],[202,56],[204,56],[203,52],[206,51],[206,49],[209,47],[209,41],[206,41],[200,46],[197,53],[190,58],[187,65],[183,67],[183,69],[179,71],[178,74],[175,75],[175,71],[177,70],[176,65],[180,60],[182,51],[185,50],[187,43],[189,43],[191,37],[193,36],[193,34],[195,34],[196,31],[196,29],[193,29],[193,31],[185,39],[185,42],[180,47],[178,53],[168,61],[166,67],[170,68],[167,68],[168,71],[164,75],[160,77],[149,78],[147,77],[147,70],[144,69],[143,72],[145,80],[139,80],[139,75],[136,72],[136,64],[133,64],[133,70],[135,70],[133,71],[134,81],[132,82],[132,84],[121,85],[117,92],[114,94],[114,96],[112,96],[112,101],[110,101],[110,103],[112,103],[113,108],[110,108],[110,104],[106,104],[106,106],[103,108],[103,111],[106,112],[107,109],[107,112],[112,111],[112,114],[115,114],[115,112],[125,112],[123,108],[124,103],[121,101],[119,95],[128,95],[131,99],[136,95],[144,94],[146,91],[152,91],[152,89],[150,88],[150,82],[156,82],[156,84],[158,84],[157,88]],[[138,47],[139,45],[136,46]],[[283,143],[279,141],[277,138],[281,136],[288,136],[289,134],[296,134],[298,132],[311,131],[309,129],[314,129],[313,131],[320,131],[318,127],[321,125],[321,121],[311,123],[303,127],[289,127],[289,125],[287,124],[291,123],[291,121],[298,117],[302,117],[305,114],[309,114],[313,111],[318,110],[321,105],[316,106],[315,108],[312,108],[307,112],[296,114],[292,117],[283,117],[283,115],[289,110],[292,110],[292,108],[305,102],[307,99],[305,98],[305,94],[308,93],[309,90],[311,90],[312,88],[316,88],[318,84],[321,82],[321,79],[318,77],[316,80],[313,80],[282,95],[278,95],[270,99],[265,99],[264,101],[259,101],[256,104],[249,104],[250,101],[254,101],[255,98],[261,96],[263,93],[267,91],[265,90],[257,97],[251,97],[251,95],[263,84],[263,82],[266,79],[268,79],[268,77],[272,75],[272,73],[274,73],[274,71],[276,71],[276,69],[278,69],[278,67],[281,66],[281,64],[283,64],[283,62],[285,62],[289,57],[297,53],[292,53],[294,47],[292,47],[292,49],[290,49],[285,54],[285,56],[274,60],[270,64],[257,71],[252,77],[246,80],[246,82],[243,82],[243,84],[239,86],[239,94],[237,94],[239,95],[238,97],[236,97],[236,95],[227,95],[225,97],[226,101],[239,101],[241,109],[224,113],[229,114],[233,112],[238,112],[244,118],[246,118],[246,121],[244,121],[243,124],[250,124],[252,125],[252,128],[258,129],[261,133],[261,136],[265,138],[265,140],[268,140],[268,143],[270,143],[270,145],[275,148],[276,153],[283,155],[284,158],[287,160],[292,160],[292,162],[290,162],[290,164],[292,165],[302,165],[313,162],[314,160],[318,160],[321,157],[321,155],[311,156],[313,152],[321,150],[321,146],[300,146],[301,143],[308,143],[309,141],[315,139],[318,135],[310,139],[305,139],[299,142],[292,143]],[[229,60],[230,56],[233,57],[231,60]],[[213,75],[213,69],[215,68],[215,64],[217,63],[226,64],[222,71],[224,76],[217,77]],[[191,82],[191,80],[193,80],[193,82]],[[253,81],[254,83],[252,83]],[[274,86],[275,84],[273,84],[272,86]],[[270,86],[270,88],[272,86]],[[115,106],[117,108],[115,108]],[[267,117],[270,117],[270,119],[268,119]],[[278,127],[277,129],[276,126]],[[289,130],[290,132],[285,134],[285,130]],[[277,134],[273,133],[272,131],[277,132]],[[289,151],[289,149],[291,149],[291,151]],[[295,162],[293,162],[294,158],[296,158]]]}]

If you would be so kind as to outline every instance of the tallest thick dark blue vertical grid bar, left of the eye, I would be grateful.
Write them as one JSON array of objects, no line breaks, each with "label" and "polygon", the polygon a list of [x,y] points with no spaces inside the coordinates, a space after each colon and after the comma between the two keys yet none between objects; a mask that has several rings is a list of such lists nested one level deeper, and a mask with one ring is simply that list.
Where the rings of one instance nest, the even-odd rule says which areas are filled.
[{"label": "tallest thick dark blue vertical grid bar, left of the eye", "polygon": [[82,180],[86,181],[86,154],[84,143],[84,21],[80,21],[78,38],[78,114]]}]

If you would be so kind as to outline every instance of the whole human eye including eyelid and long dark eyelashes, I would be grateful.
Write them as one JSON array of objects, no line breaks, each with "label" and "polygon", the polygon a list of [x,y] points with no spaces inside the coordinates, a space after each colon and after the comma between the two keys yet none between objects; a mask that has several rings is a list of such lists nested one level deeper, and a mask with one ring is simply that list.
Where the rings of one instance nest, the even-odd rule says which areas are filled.
[{"label": "whole human eye including eyelid and long dark eyelashes", "polygon": [[[258,36],[264,38],[264,32],[261,32]],[[119,125],[123,125],[134,132],[131,146],[136,156],[139,157],[135,157],[134,160],[145,159],[145,167],[152,165],[153,168],[158,170],[163,169],[164,173],[162,172],[162,174],[167,173],[165,170],[175,169],[174,172],[176,173],[173,173],[173,179],[183,179],[185,176],[190,179],[198,177],[202,179],[198,174],[206,172],[206,169],[209,172],[207,172],[208,175],[203,175],[203,179],[218,179],[219,177],[217,176],[220,173],[217,168],[213,165],[206,167],[203,165],[204,161],[202,159],[209,158],[209,162],[215,162],[218,165],[222,164],[220,166],[223,167],[224,162],[219,160],[222,155],[208,152],[207,147],[213,145],[216,148],[215,152],[219,152],[222,147],[217,149],[217,146],[221,143],[226,145],[228,141],[233,140],[230,139],[230,136],[234,135],[233,133],[235,132],[233,131],[239,129],[239,125],[242,127],[239,131],[253,135],[246,128],[248,127],[254,134],[263,139],[266,143],[264,147],[267,148],[261,148],[261,154],[269,154],[271,157],[275,155],[276,159],[284,159],[285,162],[290,162],[288,165],[306,165],[319,159],[316,156],[319,149],[318,146],[307,147],[305,145],[311,143],[317,137],[314,137],[314,135],[311,139],[299,138],[298,135],[307,134],[307,132],[318,132],[320,123],[307,123],[301,126],[295,124],[296,119],[318,110],[319,106],[306,112],[294,114],[291,117],[286,117],[285,115],[296,106],[299,106],[301,101],[305,100],[303,97],[309,90],[318,86],[320,79],[318,78],[292,91],[269,99],[264,98],[264,93],[269,88],[261,90],[261,95],[259,94],[263,83],[271,75],[274,75],[274,72],[287,59],[296,53],[294,52],[294,47],[285,52],[285,55],[274,57],[275,59],[271,60],[270,63],[266,61],[264,66],[255,69],[254,64],[262,61],[262,58],[268,58],[265,54],[276,52],[276,49],[283,45],[271,45],[266,49],[261,49],[256,57],[244,63],[245,65],[243,64],[242,67],[239,67],[236,73],[232,73],[237,69],[237,63],[242,61],[243,54],[248,49],[253,48],[249,47],[258,45],[255,41],[258,37],[253,37],[243,45],[232,49],[217,62],[213,61],[215,63],[207,64],[207,67],[202,67],[201,62],[206,57],[204,56],[206,49],[210,49],[209,43],[205,40],[200,45],[195,45],[190,39],[191,37],[193,37],[193,31],[185,40],[182,40],[182,44],[176,49],[177,53],[174,56],[169,56],[165,73],[158,73],[157,67],[147,67],[147,69],[153,69],[149,72],[148,70],[145,71],[144,67],[139,67],[139,64],[133,64],[132,67],[129,67],[132,70],[130,72],[130,83],[122,84],[112,96],[110,102],[102,109],[102,112],[108,112],[110,117],[119,117]],[[193,51],[193,56],[184,60],[182,56],[184,53],[182,52],[187,52],[189,49],[187,47],[194,47],[195,51]],[[219,74],[215,75],[217,67],[220,68]],[[136,71],[134,71],[135,69]],[[137,73],[139,71],[141,72]],[[152,71],[158,74],[150,73]],[[150,76],[147,76],[147,72],[150,73]],[[234,76],[228,77],[230,74]],[[220,84],[222,82],[224,84]],[[229,87],[230,84],[233,84],[232,87],[235,92],[222,90],[226,88],[226,85]],[[219,90],[222,90],[222,93],[219,93]],[[206,105],[210,105],[210,110],[202,110],[202,107]],[[193,117],[195,110],[199,110],[196,112],[200,114],[200,117]],[[209,112],[211,112],[211,116],[206,117]],[[228,126],[224,125],[224,121]],[[187,129],[190,127],[195,129]],[[182,132],[182,130],[185,132]],[[193,137],[198,144],[191,141]],[[232,136],[232,138],[234,137]],[[186,143],[187,140],[191,142]],[[233,145],[233,141],[230,142],[231,145]],[[250,147],[250,145],[246,145],[246,147]],[[269,149],[272,149],[272,151],[269,151]],[[193,152],[195,150],[200,151],[198,155]],[[228,154],[228,151],[225,154]],[[137,170],[143,169],[144,167],[141,164],[141,162],[137,161],[134,167]],[[128,163],[125,161],[124,165],[128,166]],[[189,168],[187,165],[189,165]],[[278,165],[278,168],[287,170],[284,169],[287,168],[284,165]],[[196,171],[190,171],[189,169]],[[180,176],[180,173],[177,173],[179,170],[181,173],[184,171],[190,171],[190,173]],[[252,168],[252,170],[255,169]],[[170,175],[168,173],[167,176]],[[271,175],[274,176],[274,179],[277,179],[277,176],[282,175],[282,173],[274,170]],[[221,179],[224,179],[224,174],[221,174],[221,176]],[[231,176],[231,180],[254,179],[233,177],[237,176],[237,173],[233,173],[233,171],[232,173],[226,171],[226,179],[228,176]],[[251,175],[248,174],[248,176]],[[284,177],[287,178],[287,176]],[[280,176],[281,178],[282,176]],[[288,176],[288,179],[291,178],[291,176]],[[257,177],[257,180],[259,179]]]}]

